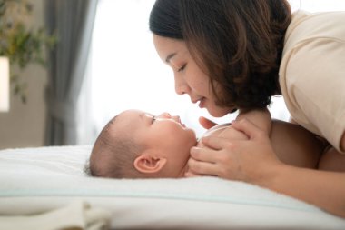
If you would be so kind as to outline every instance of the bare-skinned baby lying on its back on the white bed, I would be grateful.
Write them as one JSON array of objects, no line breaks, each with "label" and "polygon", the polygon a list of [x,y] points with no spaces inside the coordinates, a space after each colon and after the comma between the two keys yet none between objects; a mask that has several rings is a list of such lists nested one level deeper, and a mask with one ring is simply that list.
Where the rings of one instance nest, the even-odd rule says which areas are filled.
[{"label": "bare-skinned baby lying on its back on the white bed", "polygon": [[[318,168],[326,145],[300,125],[271,120],[267,110],[239,115],[269,132],[271,144],[281,162]],[[246,139],[231,125],[216,125],[205,135]],[[126,110],[116,115],[96,139],[90,155],[89,175],[111,178],[180,178],[188,172],[192,146],[201,146],[195,132],[179,116],[151,115]],[[324,164],[328,169],[330,164]]]}]

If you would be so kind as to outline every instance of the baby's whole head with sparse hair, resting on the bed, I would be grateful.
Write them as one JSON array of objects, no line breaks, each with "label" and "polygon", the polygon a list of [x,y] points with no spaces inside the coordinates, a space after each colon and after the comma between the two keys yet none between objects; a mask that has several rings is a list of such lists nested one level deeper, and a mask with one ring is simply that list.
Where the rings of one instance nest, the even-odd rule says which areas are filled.
[{"label": "baby's whole head with sparse hair, resting on the bed", "polygon": [[179,116],[126,110],[96,139],[89,171],[112,178],[183,177],[194,145],[194,131]]}]

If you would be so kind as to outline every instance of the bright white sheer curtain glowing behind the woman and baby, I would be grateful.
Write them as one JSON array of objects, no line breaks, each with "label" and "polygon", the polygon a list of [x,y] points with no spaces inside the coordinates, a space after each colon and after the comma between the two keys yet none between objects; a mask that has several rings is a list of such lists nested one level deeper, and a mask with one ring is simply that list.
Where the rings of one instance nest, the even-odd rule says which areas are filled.
[{"label": "bright white sheer curtain glowing behind the woman and baby", "polygon": [[[291,0],[292,10],[329,11],[344,9],[343,0]],[[153,47],[148,18],[154,0],[100,0],[94,24],[94,41],[84,83],[79,144],[92,144],[101,128],[129,108],[159,114],[180,115],[182,122],[201,135],[200,115],[216,122],[229,122],[235,115],[213,118],[192,105],[189,97],[176,95],[173,73],[163,65]],[[289,113],[281,97],[273,98],[271,115],[282,120]],[[85,111],[84,109],[82,111]]]}]

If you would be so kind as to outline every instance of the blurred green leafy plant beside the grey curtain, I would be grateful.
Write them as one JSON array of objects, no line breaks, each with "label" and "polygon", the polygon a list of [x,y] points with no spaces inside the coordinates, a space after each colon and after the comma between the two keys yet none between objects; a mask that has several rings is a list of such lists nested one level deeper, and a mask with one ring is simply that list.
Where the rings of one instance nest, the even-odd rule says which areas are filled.
[{"label": "blurred green leafy plant beside the grey curtain", "polygon": [[[45,66],[46,48],[53,48],[56,35],[47,35],[44,28],[33,29],[30,21],[34,5],[28,0],[0,0],[0,56],[9,59],[11,67],[24,69],[29,64]],[[10,85],[16,96],[26,102],[26,83],[11,71]]]}]

